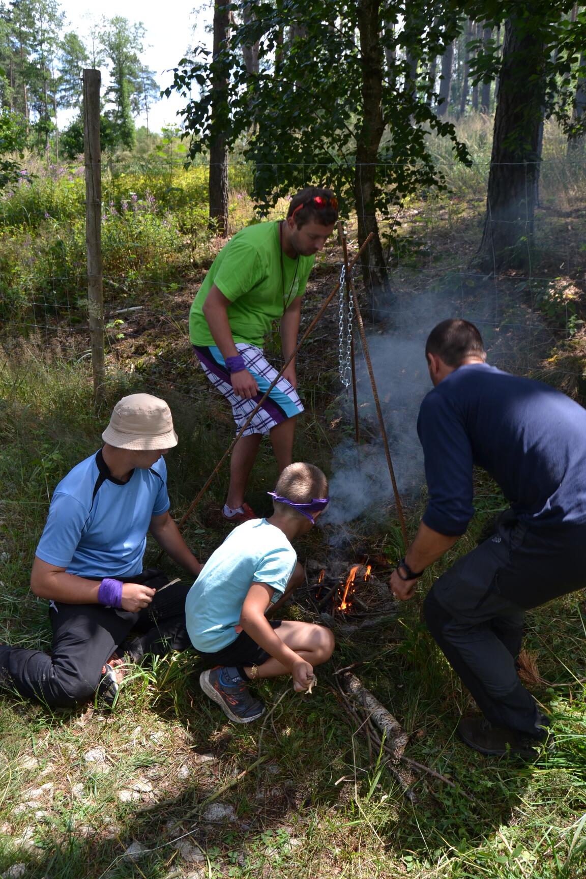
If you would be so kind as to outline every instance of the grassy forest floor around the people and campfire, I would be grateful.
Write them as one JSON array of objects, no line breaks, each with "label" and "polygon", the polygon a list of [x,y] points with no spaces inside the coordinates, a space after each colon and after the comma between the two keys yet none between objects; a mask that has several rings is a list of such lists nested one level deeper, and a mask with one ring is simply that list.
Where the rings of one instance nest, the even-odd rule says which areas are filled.
[{"label": "grassy forest floor around the people and campfire", "polygon": [[[424,338],[445,316],[479,323],[491,360],[499,365],[539,375],[584,402],[586,338],[578,322],[584,310],[586,212],[583,193],[568,187],[564,192],[564,200],[552,204],[544,198],[539,209],[532,271],[498,279],[467,268],[480,240],[480,199],[459,200],[456,193],[406,207],[395,246],[393,296],[376,303],[383,320],[369,329],[392,454],[400,452],[397,424],[407,425],[405,447],[413,450],[416,466],[413,418],[428,388]],[[352,223],[349,233],[352,251]],[[179,435],[167,459],[176,518],[232,439],[229,413],[194,367],[186,335],[192,296],[212,255],[172,289],[148,296],[108,295],[108,387],[98,412],[91,405],[83,323],[55,318],[49,329],[3,338],[0,641],[41,650],[49,646],[47,608],[28,592],[34,548],[54,485],[99,446],[119,396],[148,390],[170,403]],[[340,248],[332,241],[308,288],[304,326],[336,283],[340,265]],[[362,304],[370,316],[373,303],[363,297]],[[337,449],[352,434],[338,377],[337,330],[335,301],[300,354],[306,415],[295,447],[297,458],[332,476]],[[278,338],[268,349],[279,357]],[[397,353],[388,360],[388,351]],[[358,452],[365,460],[377,442],[366,381],[360,367],[364,439]],[[410,459],[399,452],[395,466],[402,471]],[[250,502],[260,513],[269,511],[265,492],[275,476],[263,447],[250,485]],[[185,528],[187,541],[203,558],[227,534],[219,513],[226,484],[222,469]],[[423,507],[423,483],[416,484],[418,490],[406,495],[410,535]],[[374,492],[373,480],[364,490]],[[320,567],[337,570],[369,556],[375,577],[371,585],[359,585],[361,604],[348,614],[336,609],[336,602],[329,607],[336,652],[318,670],[314,693],[294,694],[286,679],[263,682],[257,692],[268,712],[250,727],[226,722],[201,694],[201,666],[191,652],[133,669],[112,711],[98,704],[50,711],[1,697],[0,875],[586,875],[582,594],[528,616],[532,692],[553,717],[556,735],[555,749],[533,763],[481,758],[459,743],[459,716],[474,706],[420,620],[433,579],[474,547],[503,508],[496,486],[480,474],[475,505],[467,535],[426,572],[416,598],[400,607],[384,592],[388,571],[402,553],[390,495],[374,505],[374,512],[366,505],[358,520],[346,516],[344,540],[333,521],[301,541],[307,589],[286,608],[290,618],[320,621],[323,608],[315,598]],[[156,549],[149,545],[148,554],[154,558]],[[181,574],[172,565],[168,570]],[[376,624],[360,628],[366,621]],[[409,734],[406,756],[431,770],[412,770],[409,789],[396,767],[387,764],[385,752],[369,745],[363,718],[352,717],[340,696],[336,671],[348,665],[402,723]]]}]

